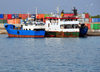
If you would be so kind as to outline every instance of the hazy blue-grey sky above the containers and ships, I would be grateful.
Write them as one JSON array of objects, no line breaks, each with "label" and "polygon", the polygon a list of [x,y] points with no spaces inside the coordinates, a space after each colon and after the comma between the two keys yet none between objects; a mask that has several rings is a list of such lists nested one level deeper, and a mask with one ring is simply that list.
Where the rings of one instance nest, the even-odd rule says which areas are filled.
[{"label": "hazy blue-grey sky above the containers and ships", "polygon": [[100,15],[100,0],[0,0],[0,13],[56,13],[72,12],[73,7],[78,13],[88,12],[90,15]]}]

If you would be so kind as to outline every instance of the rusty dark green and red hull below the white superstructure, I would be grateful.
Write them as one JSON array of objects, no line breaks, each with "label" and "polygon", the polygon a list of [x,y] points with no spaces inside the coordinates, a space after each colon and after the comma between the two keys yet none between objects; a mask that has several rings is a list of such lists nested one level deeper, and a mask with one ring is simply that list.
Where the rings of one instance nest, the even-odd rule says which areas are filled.
[{"label": "rusty dark green and red hull below the white superstructure", "polygon": [[52,32],[47,31],[46,37],[79,37],[79,32]]}]

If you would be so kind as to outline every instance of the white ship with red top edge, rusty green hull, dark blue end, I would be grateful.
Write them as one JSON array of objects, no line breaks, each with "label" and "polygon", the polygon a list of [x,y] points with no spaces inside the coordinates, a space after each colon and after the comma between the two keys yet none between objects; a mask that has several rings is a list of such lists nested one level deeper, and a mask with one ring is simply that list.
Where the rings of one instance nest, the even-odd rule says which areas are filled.
[{"label": "white ship with red top edge, rusty green hull, dark blue end", "polygon": [[84,37],[88,28],[77,17],[46,17],[46,37]]}]

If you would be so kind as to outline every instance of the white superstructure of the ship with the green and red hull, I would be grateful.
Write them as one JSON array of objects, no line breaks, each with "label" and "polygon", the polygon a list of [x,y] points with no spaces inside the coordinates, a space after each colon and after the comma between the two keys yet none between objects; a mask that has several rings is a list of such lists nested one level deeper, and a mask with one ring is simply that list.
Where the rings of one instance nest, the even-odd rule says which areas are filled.
[{"label": "white superstructure of the ship with the green and red hull", "polygon": [[46,31],[58,31],[58,32],[79,32],[79,21],[68,21],[61,18],[49,18],[46,20]]}]

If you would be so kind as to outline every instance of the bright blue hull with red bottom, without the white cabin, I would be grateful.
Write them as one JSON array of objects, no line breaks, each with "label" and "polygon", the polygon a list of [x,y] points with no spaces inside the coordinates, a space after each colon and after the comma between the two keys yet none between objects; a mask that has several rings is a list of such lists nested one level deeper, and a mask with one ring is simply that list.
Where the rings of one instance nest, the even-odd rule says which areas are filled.
[{"label": "bright blue hull with red bottom, without the white cabin", "polygon": [[[23,30],[23,29],[16,29],[14,25],[5,24],[5,29],[8,32],[9,37],[44,37],[45,31],[33,31],[33,30]],[[15,28],[15,29],[14,29]]]}]

